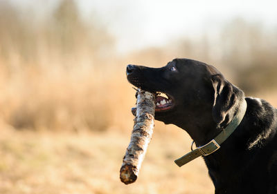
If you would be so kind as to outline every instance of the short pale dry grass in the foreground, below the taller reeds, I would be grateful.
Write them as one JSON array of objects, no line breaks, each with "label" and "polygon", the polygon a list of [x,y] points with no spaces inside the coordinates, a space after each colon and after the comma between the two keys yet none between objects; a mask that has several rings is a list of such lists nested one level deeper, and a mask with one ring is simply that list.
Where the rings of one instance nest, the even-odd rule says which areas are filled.
[{"label": "short pale dry grass in the foreground, below the taller reeds", "polygon": [[0,193],[213,193],[202,159],[182,168],[173,162],[188,151],[190,139],[172,126],[154,133],[138,180],[120,182],[129,135],[1,128]]}]

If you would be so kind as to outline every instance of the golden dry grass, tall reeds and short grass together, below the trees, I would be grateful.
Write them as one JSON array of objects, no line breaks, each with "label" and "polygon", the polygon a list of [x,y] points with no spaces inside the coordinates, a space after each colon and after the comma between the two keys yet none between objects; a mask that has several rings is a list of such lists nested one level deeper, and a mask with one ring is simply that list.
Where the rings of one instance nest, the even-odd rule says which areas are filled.
[{"label": "golden dry grass, tall reeds and short grass together, below the trees", "polygon": [[2,77],[0,193],[213,193],[202,159],[174,163],[190,137],[159,122],[139,179],[120,182],[135,91],[124,68],[91,72],[31,68]]}]

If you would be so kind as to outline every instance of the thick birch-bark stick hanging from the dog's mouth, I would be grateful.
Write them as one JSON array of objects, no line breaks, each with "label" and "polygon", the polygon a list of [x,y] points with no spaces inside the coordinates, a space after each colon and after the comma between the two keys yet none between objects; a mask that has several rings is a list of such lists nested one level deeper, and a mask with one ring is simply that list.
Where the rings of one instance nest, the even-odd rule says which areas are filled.
[{"label": "thick birch-bark stick hanging from the dog's mouth", "polygon": [[120,168],[120,180],[125,184],[135,182],[139,175],[141,163],[152,138],[155,102],[156,98],[154,94],[139,90],[131,141]]}]

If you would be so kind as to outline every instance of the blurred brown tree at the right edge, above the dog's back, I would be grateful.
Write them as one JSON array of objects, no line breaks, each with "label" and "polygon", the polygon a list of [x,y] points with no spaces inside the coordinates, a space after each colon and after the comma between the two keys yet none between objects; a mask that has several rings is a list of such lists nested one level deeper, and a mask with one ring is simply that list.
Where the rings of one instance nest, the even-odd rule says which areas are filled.
[{"label": "blurred brown tree at the right edge, above the dog's back", "polygon": [[232,67],[238,85],[247,93],[277,85],[276,48],[276,33],[260,23],[238,18],[222,30],[222,63]]}]

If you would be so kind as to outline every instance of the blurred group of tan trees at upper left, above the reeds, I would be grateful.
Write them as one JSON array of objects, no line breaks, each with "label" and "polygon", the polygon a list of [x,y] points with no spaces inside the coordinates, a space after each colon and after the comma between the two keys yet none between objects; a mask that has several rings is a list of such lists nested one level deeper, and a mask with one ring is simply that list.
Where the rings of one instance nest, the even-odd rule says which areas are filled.
[{"label": "blurred group of tan trees at upper left, above the reeds", "polygon": [[[73,0],[62,0],[35,21],[34,12],[0,1],[0,62],[9,70],[91,66],[114,53],[114,39],[96,21],[84,22]],[[33,16],[32,16],[33,15]]]}]

